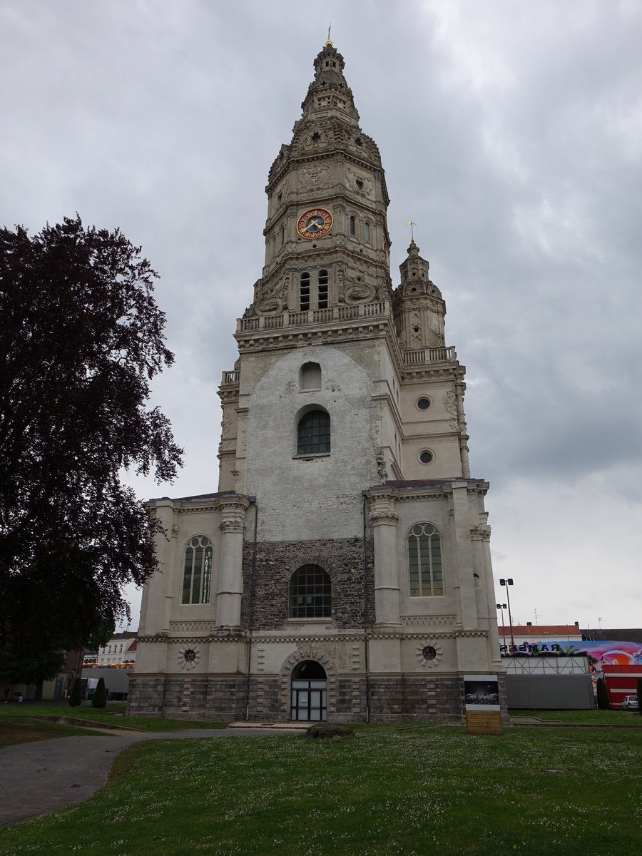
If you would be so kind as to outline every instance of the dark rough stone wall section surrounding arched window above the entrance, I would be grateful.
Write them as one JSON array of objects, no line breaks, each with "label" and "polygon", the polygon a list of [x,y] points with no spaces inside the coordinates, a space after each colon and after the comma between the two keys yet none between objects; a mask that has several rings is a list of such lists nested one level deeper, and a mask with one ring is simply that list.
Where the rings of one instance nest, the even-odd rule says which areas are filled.
[{"label": "dark rough stone wall section surrounding arched window above the entrance", "polygon": [[[374,622],[371,538],[368,538],[366,551],[367,620],[371,626]],[[297,568],[308,564],[319,565],[330,574],[334,626],[346,630],[363,627],[363,538],[333,538],[257,544],[253,630],[276,630],[285,626],[290,578]],[[243,548],[243,627],[249,627],[252,572],[253,544],[249,542]]]}]

